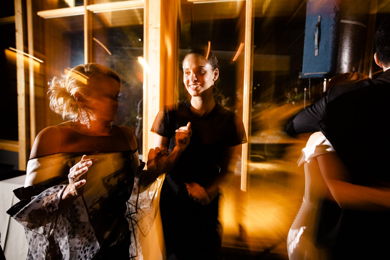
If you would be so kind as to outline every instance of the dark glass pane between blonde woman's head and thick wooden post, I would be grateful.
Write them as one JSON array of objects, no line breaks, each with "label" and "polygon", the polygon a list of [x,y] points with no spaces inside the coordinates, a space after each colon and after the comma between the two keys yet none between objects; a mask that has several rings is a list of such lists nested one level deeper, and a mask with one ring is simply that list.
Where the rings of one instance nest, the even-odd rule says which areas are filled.
[{"label": "dark glass pane between blonde woman's head and thick wooden post", "polygon": [[92,15],[92,61],[121,76],[122,92],[113,124],[130,127],[142,154],[144,9],[97,12]]}]

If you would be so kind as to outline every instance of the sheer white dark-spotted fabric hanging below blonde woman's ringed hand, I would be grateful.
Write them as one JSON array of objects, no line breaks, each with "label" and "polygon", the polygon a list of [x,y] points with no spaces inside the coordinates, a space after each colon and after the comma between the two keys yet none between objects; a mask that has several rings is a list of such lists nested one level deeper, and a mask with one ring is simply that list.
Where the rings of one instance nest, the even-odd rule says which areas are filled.
[{"label": "sheer white dark-spotted fabric hanging below blonde woman's ringed hand", "polygon": [[65,186],[46,189],[14,215],[14,219],[25,226],[29,242],[27,259],[44,260],[46,254],[48,259],[56,259],[48,252],[49,236],[53,232],[62,259],[77,259],[80,252],[85,252],[83,259],[92,259],[99,249],[82,197],[74,200],[69,210],[58,214],[57,228],[53,229],[59,202],[57,195]]}]

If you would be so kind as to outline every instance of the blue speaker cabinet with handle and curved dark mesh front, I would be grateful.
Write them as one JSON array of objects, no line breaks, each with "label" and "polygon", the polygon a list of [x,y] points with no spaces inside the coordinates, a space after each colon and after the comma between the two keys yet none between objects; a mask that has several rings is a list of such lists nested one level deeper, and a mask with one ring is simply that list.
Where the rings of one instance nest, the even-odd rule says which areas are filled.
[{"label": "blue speaker cabinet with handle and curved dark mesh front", "polygon": [[362,71],[369,2],[307,0],[302,78]]}]

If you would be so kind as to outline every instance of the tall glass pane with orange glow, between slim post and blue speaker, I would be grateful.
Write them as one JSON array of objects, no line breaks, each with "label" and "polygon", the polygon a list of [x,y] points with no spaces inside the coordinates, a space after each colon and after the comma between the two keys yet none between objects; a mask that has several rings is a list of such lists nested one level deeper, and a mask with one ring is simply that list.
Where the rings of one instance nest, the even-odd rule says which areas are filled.
[{"label": "tall glass pane with orange glow, between slim post and blue speaker", "polygon": [[293,140],[284,132],[285,122],[293,115],[294,107],[300,109],[303,104],[299,72],[305,3],[266,1],[256,5],[254,10],[248,158],[252,199],[248,207],[256,210],[248,212],[248,223],[257,230],[254,239],[261,248],[274,247],[272,253],[284,256],[287,256],[287,233],[300,207],[305,186],[303,169],[296,164],[303,141]]}]

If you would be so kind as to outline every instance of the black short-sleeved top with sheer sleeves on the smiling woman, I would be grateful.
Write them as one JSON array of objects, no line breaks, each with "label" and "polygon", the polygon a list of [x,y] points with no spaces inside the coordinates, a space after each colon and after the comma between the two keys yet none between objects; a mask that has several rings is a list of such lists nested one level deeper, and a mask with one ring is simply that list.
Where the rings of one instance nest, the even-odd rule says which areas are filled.
[{"label": "black short-sleeved top with sheer sleeves on the smiling woman", "polygon": [[196,182],[207,186],[219,173],[226,147],[246,143],[242,119],[216,104],[206,116],[190,110],[190,99],[165,106],[156,116],[151,131],[170,138],[169,151],[175,147],[175,131],[191,122],[190,144],[177,161],[170,177],[176,184]]}]

